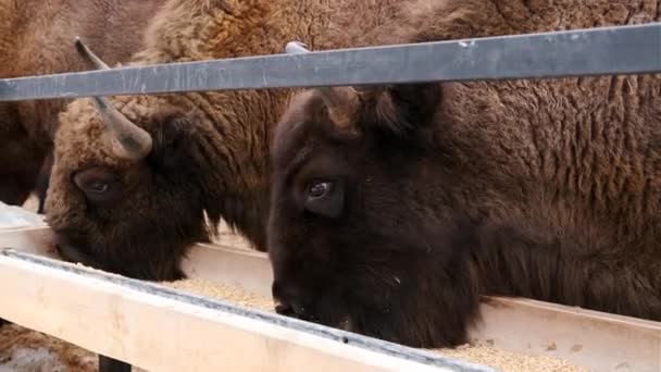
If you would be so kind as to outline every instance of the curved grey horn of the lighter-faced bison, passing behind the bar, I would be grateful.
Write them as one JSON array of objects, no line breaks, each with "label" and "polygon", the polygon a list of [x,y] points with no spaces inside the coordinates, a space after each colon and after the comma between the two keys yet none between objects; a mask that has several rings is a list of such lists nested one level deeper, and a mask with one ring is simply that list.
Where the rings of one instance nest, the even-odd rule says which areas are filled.
[{"label": "curved grey horn of the lighter-faced bison, passing behind the bar", "polygon": [[[90,64],[99,70],[110,70],[108,64],[97,57],[79,37],[76,37],[75,44],[78,53]],[[116,139],[115,153],[129,160],[140,160],[147,157],[151,152],[152,146],[149,133],[129,121],[107,98],[92,98],[99,113],[103,117],[103,123]]]}]

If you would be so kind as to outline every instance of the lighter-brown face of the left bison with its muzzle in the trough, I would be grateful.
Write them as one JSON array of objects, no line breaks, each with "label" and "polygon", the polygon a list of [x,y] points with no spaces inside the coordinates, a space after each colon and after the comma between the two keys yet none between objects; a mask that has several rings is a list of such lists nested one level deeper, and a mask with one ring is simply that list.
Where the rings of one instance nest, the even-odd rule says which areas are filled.
[{"label": "lighter-brown face of the left bison with its muzzle in the trough", "polygon": [[200,126],[154,97],[113,106],[147,131],[149,151],[127,159],[108,117],[89,99],[74,101],[55,136],[47,221],[65,259],[137,278],[180,277],[186,247],[207,238],[204,193],[195,176]]}]

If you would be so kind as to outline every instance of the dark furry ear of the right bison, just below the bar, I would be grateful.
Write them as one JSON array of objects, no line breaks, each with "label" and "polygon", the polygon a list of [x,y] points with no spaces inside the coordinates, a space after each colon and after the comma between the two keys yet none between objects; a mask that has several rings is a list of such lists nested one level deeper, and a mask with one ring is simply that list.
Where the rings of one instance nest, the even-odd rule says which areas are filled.
[{"label": "dark furry ear of the right bison, just below the bar", "polygon": [[392,85],[373,94],[375,124],[401,136],[432,123],[440,102],[440,84]]}]

